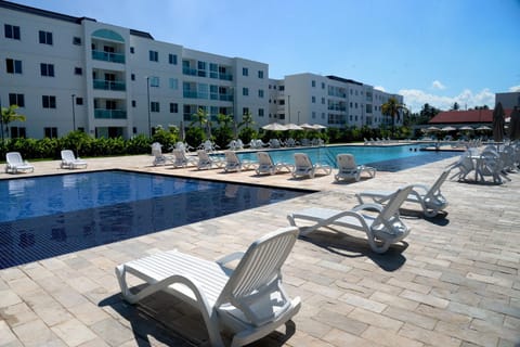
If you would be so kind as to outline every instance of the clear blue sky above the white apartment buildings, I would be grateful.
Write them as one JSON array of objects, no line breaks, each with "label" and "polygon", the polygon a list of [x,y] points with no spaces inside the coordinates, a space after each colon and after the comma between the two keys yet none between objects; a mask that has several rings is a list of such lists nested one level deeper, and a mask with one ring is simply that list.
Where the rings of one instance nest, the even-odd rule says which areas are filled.
[{"label": "clear blue sky above the white apartment buildings", "polygon": [[520,0],[12,0],[268,63],[271,78],[336,75],[413,112],[494,106],[520,91]]}]

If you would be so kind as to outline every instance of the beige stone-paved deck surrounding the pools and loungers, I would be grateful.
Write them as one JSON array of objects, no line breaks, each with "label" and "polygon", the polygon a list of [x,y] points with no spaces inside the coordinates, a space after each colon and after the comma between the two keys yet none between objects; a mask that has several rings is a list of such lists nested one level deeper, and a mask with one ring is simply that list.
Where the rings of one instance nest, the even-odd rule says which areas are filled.
[{"label": "beige stone-paved deck surrounding the pools and loungers", "polygon": [[[208,346],[200,317],[157,294],[138,306],[119,295],[116,265],[159,250],[216,259],[244,250],[288,226],[308,206],[351,208],[363,190],[431,184],[445,159],[360,182],[334,177],[257,177],[255,171],[153,167],[148,155],[87,159],[87,170],[130,169],[320,192],[74,254],[0,270],[0,346]],[[64,174],[34,162],[34,175]],[[76,171],[83,171],[76,170]],[[334,172],[333,172],[334,174]],[[0,174],[0,179],[32,175]],[[520,174],[502,185],[446,181],[447,215],[421,218],[405,205],[412,228],[404,245],[370,252],[358,231],[324,229],[299,239],[283,268],[302,307],[288,338],[273,333],[253,346],[520,346]]]}]

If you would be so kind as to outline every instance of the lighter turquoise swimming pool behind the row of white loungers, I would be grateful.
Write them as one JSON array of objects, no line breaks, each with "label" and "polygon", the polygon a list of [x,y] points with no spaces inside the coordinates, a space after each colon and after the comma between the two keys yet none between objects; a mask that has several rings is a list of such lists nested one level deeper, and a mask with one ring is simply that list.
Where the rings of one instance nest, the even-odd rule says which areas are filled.
[{"label": "lighter turquoise swimming pool behind the row of white loungers", "polygon": [[[422,145],[424,146],[424,145]],[[336,155],[351,153],[356,164],[375,167],[379,171],[395,172],[419,165],[460,155],[452,151],[420,151],[419,145],[328,145],[321,147],[291,147],[270,150],[274,162],[294,163],[294,153],[307,153],[312,162],[336,167]],[[255,152],[238,154],[240,159],[257,159]]]}]

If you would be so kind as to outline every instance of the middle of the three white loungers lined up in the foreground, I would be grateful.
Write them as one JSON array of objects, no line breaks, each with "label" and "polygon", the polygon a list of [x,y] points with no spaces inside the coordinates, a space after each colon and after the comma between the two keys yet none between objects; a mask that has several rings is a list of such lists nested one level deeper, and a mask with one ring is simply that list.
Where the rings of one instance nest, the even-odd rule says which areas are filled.
[{"label": "middle of the three white loungers lined up in the foreground", "polygon": [[[363,204],[350,210],[311,207],[287,216],[291,226],[296,219],[314,222],[313,226],[300,228],[300,234],[307,235],[318,228],[339,226],[366,233],[370,248],[376,253],[385,253],[390,245],[402,241],[410,233],[400,219],[399,208],[408,196],[412,187],[399,189],[389,200],[388,204]],[[367,210],[377,210],[377,214],[366,214]]]}]

